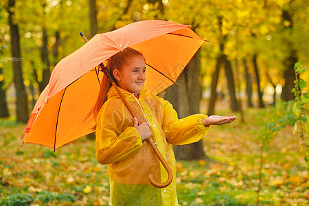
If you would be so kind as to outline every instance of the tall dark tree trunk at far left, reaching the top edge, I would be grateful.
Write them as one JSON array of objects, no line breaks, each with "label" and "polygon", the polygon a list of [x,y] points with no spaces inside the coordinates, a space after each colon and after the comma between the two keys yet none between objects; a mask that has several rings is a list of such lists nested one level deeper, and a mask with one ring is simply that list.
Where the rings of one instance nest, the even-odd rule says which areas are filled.
[{"label": "tall dark tree trunk at far left, reaching the top edge", "polygon": [[11,49],[13,70],[14,70],[14,85],[16,88],[16,121],[26,123],[28,120],[28,99],[23,84],[23,75],[21,70],[21,49],[19,27],[13,21],[15,0],[8,1],[8,21],[11,33]]}]

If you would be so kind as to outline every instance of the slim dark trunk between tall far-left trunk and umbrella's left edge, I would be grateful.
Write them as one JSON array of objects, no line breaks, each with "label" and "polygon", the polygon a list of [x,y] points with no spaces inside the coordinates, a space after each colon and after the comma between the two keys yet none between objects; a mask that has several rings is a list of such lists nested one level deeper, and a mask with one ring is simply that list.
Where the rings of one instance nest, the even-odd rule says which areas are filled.
[{"label": "slim dark trunk between tall far-left trunk and umbrella's left edge", "polygon": [[43,27],[43,45],[41,47],[41,58],[43,62],[43,77],[42,82],[38,82],[38,87],[40,92],[42,92],[47,86],[50,78],[50,62],[48,58],[48,40],[47,40],[47,31],[46,28]]}]

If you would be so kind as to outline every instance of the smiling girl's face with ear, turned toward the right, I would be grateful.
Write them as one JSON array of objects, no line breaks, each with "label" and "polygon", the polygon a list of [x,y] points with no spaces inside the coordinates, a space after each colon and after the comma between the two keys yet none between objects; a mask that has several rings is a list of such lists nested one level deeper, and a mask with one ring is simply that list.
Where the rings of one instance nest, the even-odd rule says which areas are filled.
[{"label": "smiling girl's face with ear, turned toward the right", "polygon": [[146,66],[143,56],[133,56],[128,65],[121,71],[115,69],[113,75],[119,83],[119,87],[130,92],[139,92],[146,80]]}]

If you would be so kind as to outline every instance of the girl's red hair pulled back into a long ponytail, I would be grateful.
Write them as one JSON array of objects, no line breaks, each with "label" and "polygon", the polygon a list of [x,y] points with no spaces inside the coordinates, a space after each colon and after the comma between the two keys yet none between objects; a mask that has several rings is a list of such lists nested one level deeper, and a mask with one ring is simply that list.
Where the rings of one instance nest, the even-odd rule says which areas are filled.
[{"label": "girl's red hair pulled back into a long ponytail", "polygon": [[[113,71],[115,69],[118,69],[119,71],[121,71],[122,68],[124,68],[124,66],[130,64],[130,58],[133,56],[143,56],[143,54],[141,54],[141,52],[135,49],[128,47],[122,50],[121,52],[118,52],[117,54],[108,58],[106,67],[108,68],[109,73],[111,73],[111,76],[113,80],[115,81],[115,84],[119,85],[117,80],[113,77]],[[97,102],[95,102],[95,105],[93,106],[91,112],[89,113],[89,115],[93,113],[95,122],[98,117],[98,113],[100,112],[100,109],[102,108],[104,102],[106,102],[107,100],[107,93],[108,93],[108,90],[111,88],[111,85],[112,85],[111,82],[109,82],[106,76],[104,75],[102,83],[101,83],[101,87],[100,87],[100,93],[98,96],[98,100]]]}]

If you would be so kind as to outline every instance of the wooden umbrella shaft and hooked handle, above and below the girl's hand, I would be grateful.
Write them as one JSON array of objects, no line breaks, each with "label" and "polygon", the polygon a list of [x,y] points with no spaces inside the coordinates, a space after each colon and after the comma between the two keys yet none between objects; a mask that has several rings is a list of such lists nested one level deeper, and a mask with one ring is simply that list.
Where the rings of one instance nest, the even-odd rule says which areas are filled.
[{"label": "wooden umbrella shaft and hooked handle, above and below the girl's hand", "polygon": [[[135,112],[133,111],[133,109],[130,107],[130,105],[128,104],[128,102],[126,102],[126,99],[124,98],[124,95],[122,95],[122,92],[119,90],[119,88],[117,87],[117,85],[115,84],[113,78],[111,78],[111,73],[109,73],[107,67],[104,67],[103,64],[100,64],[100,67],[102,68],[102,71],[104,72],[105,76],[107,77],[107,79],[114,85],[117,93],[119,93],[120,98],[122,98],[122,101],[124,102],[124,104],[126,105],[126,107],[128,108],[128,110],[130,111],[131,115],[133,117],[137,117],[137,115],[135,115]],[[154,141],[152,141],[152,139],[148,138],[148,141],[150,143],[150,145],[152,146],[153,150],[155,151],[155,154],[157,155],[157,157],[159,158],[159,160],[161,161],[162,165],[164,166],[165,170],[168,172],[168,180],[165,183],[156,183],[155,180],[152,177],[152,174],[148,174],[148,180],[149,182],[154,185],[155,187],[158,188],[162,188],[162,187],[167,187],[168,185],[170,185],[170,183],[172,183],[172,179],[173,179],[173,173],[172,170],[170,169],[170,166],[168,165],[168,163],[165,161],[165,159],[163,158],[163,156],[161,155],[160,151],[158,150],[156,144]]]}]

